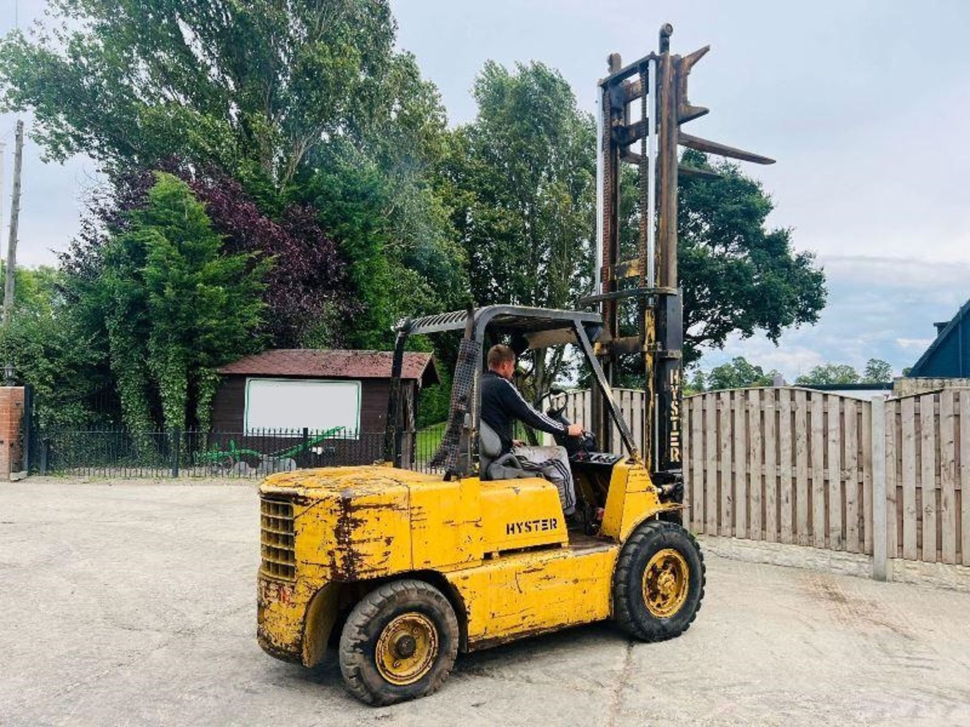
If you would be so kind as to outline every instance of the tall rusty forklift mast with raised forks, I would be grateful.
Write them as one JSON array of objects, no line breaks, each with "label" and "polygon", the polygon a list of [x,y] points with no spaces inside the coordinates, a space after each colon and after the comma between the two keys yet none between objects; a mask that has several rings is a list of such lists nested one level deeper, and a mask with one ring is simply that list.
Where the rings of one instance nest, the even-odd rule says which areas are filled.
[{"label": "tall rusty forklift mast with raised forks", "polygon": [[[673,26],[664,24],[660,47],[624,66],[608,58],[598,82],[597,262],[594,295],[605,330],[596,354],[612,385],[624,357],[642,358],[643,457],[657,484],[679,482],[682,470],[683,295],[677,278],[678,175],[717,177],[679,163],[678,145],[698,151],[773,164],[767,157],[685,134],[680,125],[708,112],[687,97],[695,63],[710,49],[670,54]],[[635,120],[633,115],[635,113]],[[637,148],[638,146],[638,148]],[[635,255],[621,250],[621,166],[638,173],[639,230]],[[627,259],[624,259],[624,258]],[[635,325],[635,334],[630,333]],[[610,452],[613,427],[606,395],[593,389],[592,426],[600,448]]]}]

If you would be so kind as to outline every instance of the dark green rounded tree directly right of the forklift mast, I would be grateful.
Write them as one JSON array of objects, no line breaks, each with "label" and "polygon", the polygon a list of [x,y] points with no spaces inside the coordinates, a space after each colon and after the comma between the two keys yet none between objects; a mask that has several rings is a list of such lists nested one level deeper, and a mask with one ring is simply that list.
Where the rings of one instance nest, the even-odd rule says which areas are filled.
[{"label": "dark green rounded tree directly right of the forklift mast", "polygon": [[[719,179],[681,177],[677,229],[684,287],[684,361],[720,347],[730,333],[764,331],[777,343],[785,329],[813,324],[825,303],[824,273],[814,255],[792,250],[792,231],[766,229],[773,208],[755,181],[687,150],[683,161]],[[629,186],[629,185],[628,185]]]}]

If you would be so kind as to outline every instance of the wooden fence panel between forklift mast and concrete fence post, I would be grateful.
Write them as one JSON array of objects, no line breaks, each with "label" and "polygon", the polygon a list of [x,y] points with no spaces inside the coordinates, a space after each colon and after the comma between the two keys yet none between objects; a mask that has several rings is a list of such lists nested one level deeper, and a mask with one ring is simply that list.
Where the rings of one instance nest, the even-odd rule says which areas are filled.
[{"label": "wooden fence panel between forklift mast and concrete fence post", "polygon": [[872,553],[872,405],[805,389],[685,401],[697,532]]}]

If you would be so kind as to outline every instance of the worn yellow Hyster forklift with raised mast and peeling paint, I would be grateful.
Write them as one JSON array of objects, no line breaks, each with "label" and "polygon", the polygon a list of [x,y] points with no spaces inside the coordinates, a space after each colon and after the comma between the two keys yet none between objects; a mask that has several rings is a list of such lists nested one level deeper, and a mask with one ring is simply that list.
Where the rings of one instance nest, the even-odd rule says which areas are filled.
[{"label": "worn yellow Hyster forklift with raised mast and peeling paint", "polygon": [[[610,618],[645,642],[691,625],[704,564],[681,524],[676,187],[678,172],[710,173],[679,167],[677,144],[770,160],[678,131],[706,111],[686,93],[706,48],[671,55],[671,30],[663,26],[659,53],[627,67],[610,56],[599,82],[597,282],[581,301],[596,311],[493,305],[404,321],[384,460],[275,474],[261,485],[258,638],[268,653],[313,666],[335,645],[348,689],[388,705],[434,692],[459,651]],[[636,100],[640,120],[631,123]],[[637,141],[640,154],[630,151]],[[640,254],[626,262],[621,161],[641,172]],[[639,334],[621,335],[630,320]],[[402,362],[409,336],[445,332],[464,335],[449,420],[430,462],[438,474],[428,474],[404,466]],[[556,487],[502,453],[480,420],[482,354],[499,341],[536,356],[571,344],[591,373],[594,432],[561,442],[584,513],[579,527],[567,526]],[[645,363],[642,453],[610,388],[620,357],[630,355]],[[611,441],[614,432],[621,442]]]}]

